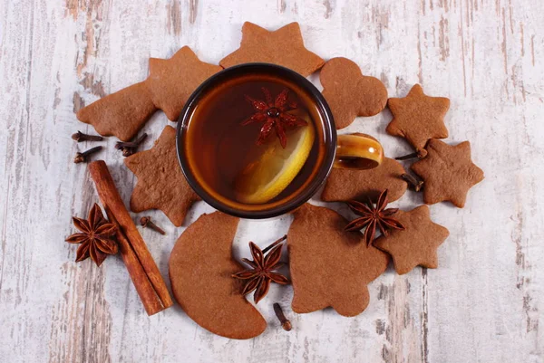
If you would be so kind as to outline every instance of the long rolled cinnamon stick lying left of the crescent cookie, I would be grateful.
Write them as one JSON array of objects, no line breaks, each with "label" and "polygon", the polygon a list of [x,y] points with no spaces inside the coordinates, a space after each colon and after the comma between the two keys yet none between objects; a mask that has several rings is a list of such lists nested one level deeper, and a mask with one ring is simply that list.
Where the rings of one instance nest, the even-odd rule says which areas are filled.
[{"label": "long rolled cinnamon stick lying left of the crescent cookie", "polygon": [[[129,211],[122,203],[106,163],[103,160],[93,161],[89,164],[89,171],[106,214],[118,225],[121,234],[121,257],[127,265],[146,311],[152,315],[169,308],[173,304],[170,292],[140,232],[132,222]],[[144,272],[145,278],[141,271]],[[151,284],[152,291],[148,284]]]}]

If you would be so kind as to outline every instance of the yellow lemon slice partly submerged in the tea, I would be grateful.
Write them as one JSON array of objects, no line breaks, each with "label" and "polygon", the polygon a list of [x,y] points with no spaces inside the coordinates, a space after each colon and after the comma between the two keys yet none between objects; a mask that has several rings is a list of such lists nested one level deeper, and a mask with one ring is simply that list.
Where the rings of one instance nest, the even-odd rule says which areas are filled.
[{"label": "yellow lemon slice partly submerged in the tea", "polygon": [[287,147],[276,139],[267,145],[257,160],[248,163],[235,182],[238,201],[245,204],[263,204],[280,194],[296,177],[306,163],[314,144],[315,132],[308,125],[287,132]]}]

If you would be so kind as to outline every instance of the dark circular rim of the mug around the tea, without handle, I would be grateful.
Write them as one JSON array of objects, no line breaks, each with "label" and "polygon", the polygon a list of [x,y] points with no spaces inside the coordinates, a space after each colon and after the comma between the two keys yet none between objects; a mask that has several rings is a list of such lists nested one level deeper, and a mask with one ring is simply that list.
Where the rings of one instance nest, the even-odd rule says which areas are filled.
[{"label": "dark circular rim of the mug around the tea, without handle", "polygon": [[[199,185],[196,177],[193,176],[190,171],[187,158],[183,157],[183,145],[181,140],[183,139],[184,130],[186,129],[186,123],[189,119],[189,116],[192,114],[194,107],[198,104],[199,97],[208,91],[210,87],[213,87],[217,82],[223,81],[233,74],[243,74],[244,72],[259,72],[262,70],[273,71],[279,73],[278,75],[282,78],[290,79],[295,81],[298,86],[308,92],[312,99],[316,102],[317,109],[322,114],[324,119],[324,136],[325,136],[325,158],[323,161],[323,166],[318,170],[316,177],[310,183],[309,186],[303,190],[299,196],[296,196],[294,199],[287,201],[287,203],[278,205],[274,208],[258,210],[258,211],[248,211],[242,210],[239,208],[234,208],[229,205],[225,205],[215,197],[210,196],[209,193]],[[326,146],[329,144],[329,146]],[[312,196],[316,194],[317,189],[323,185],[326,177],[331,172],[335,161],[336,154],[336,128],[335,128],[335,119],[333,113],[330,110],[329,105],[326,103],[325,97],[323,94],[317,90],[316,86],[306,79],[306,77],[301,74],[292,71],[286,67],[271,64],[266,62],[250,62],[238,64],[223,71],[217,72],[210,76],[206,81],[203,81],[199,87],[191,93],[187,102],[181,110],[180,117],[178,118],[178,124],[176,125],[176,151],[178,154],[178,162],[180,163],[181,172],[183,176],[187,179],[189,186],[194,190],[194,192],[206,203],[219,210],[220,212],[226,213],[228,215],[234,215],[240,218],[247,219],[267,219],[273,218],[278,215],[285,215],[289,212],[294,211],[300,205],[305,204]]]}]

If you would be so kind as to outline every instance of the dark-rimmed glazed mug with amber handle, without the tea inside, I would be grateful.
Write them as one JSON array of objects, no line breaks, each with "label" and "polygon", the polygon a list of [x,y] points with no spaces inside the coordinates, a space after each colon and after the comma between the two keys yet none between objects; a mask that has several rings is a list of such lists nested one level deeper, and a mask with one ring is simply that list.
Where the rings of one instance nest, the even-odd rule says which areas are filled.
[{"label": "dark-rimmed glazed mug with amber handle, without the tea inside", "polygon": [[[199,180],[197,173],[190,165],[187,147],[187,130],[189,120],[199,101],[209,92],[217,89],[223,82],[230,81],[248,74],[256,76],[273,76],[291,84],[296,84],[299,90],[306,93],[306,97],[316,105],[316,110],[322,120],[320,136],[325,143],[324,155],[316,166],[316,173],[307,180],[302,190],[297,190],[293,196],[272,201],[261,205],[246,205],[234,200],[226,200],[223,196],[214,194],[209,187]],[[266,219],[294,211],[300,205],[316,194],[317,189],[325,182],[332,167],[368,169],[377,167],[384,157],[380,143],[364,134],[336,136],[333,114],[320,91],[305,77],[285,67],[268,63],[246,63],[230,67],[218,72],[204,81],[194,91],[185,107],[181,111],[177,125],[176,148],[180,167],[194,191],[209,205],[228,215],[235,215],[248,219]],[[201,178],[200,178],[201,179]]]}]

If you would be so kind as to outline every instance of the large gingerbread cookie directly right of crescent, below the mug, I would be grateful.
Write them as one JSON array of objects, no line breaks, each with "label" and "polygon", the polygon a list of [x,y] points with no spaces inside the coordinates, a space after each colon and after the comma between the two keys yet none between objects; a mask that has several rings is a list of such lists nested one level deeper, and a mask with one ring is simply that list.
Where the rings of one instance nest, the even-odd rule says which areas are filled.
[{"label": "large gingerbread cookie directly right of crescent, below the mug", "polygon": [[355,316],[368,306],[366,285],[387,268],[389,257],[367,246],[359,232],[345,232],[347,221],[335,211],[302,205],[287,233],[293,283],[293,311],[332,307]]}]

